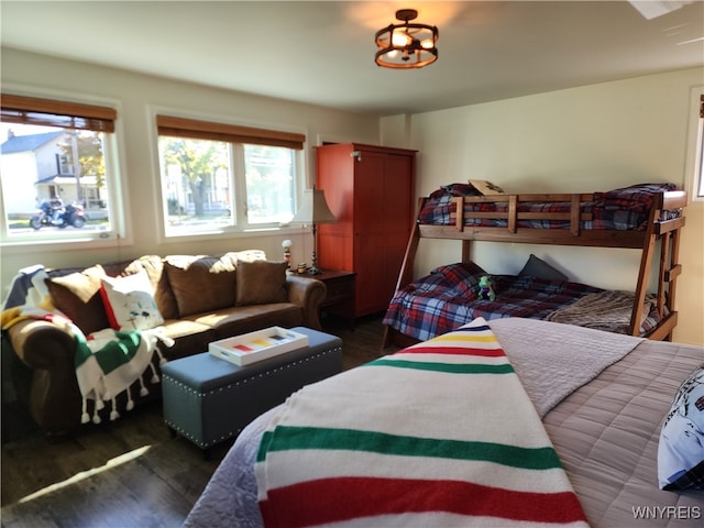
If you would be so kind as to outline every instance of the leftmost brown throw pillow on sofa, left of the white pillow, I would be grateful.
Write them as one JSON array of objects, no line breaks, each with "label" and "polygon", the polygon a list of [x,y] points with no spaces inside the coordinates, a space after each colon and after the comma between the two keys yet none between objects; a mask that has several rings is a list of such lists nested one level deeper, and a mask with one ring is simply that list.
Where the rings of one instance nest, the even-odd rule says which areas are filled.
[{"label": "leftmost brown throw pillow on sofa, left of the white pillow", "polygon": [[105,276],[102,266],[97,265],[45,280],[54,306],[86,336],[110,328],[100,296],[100,279]]}]

